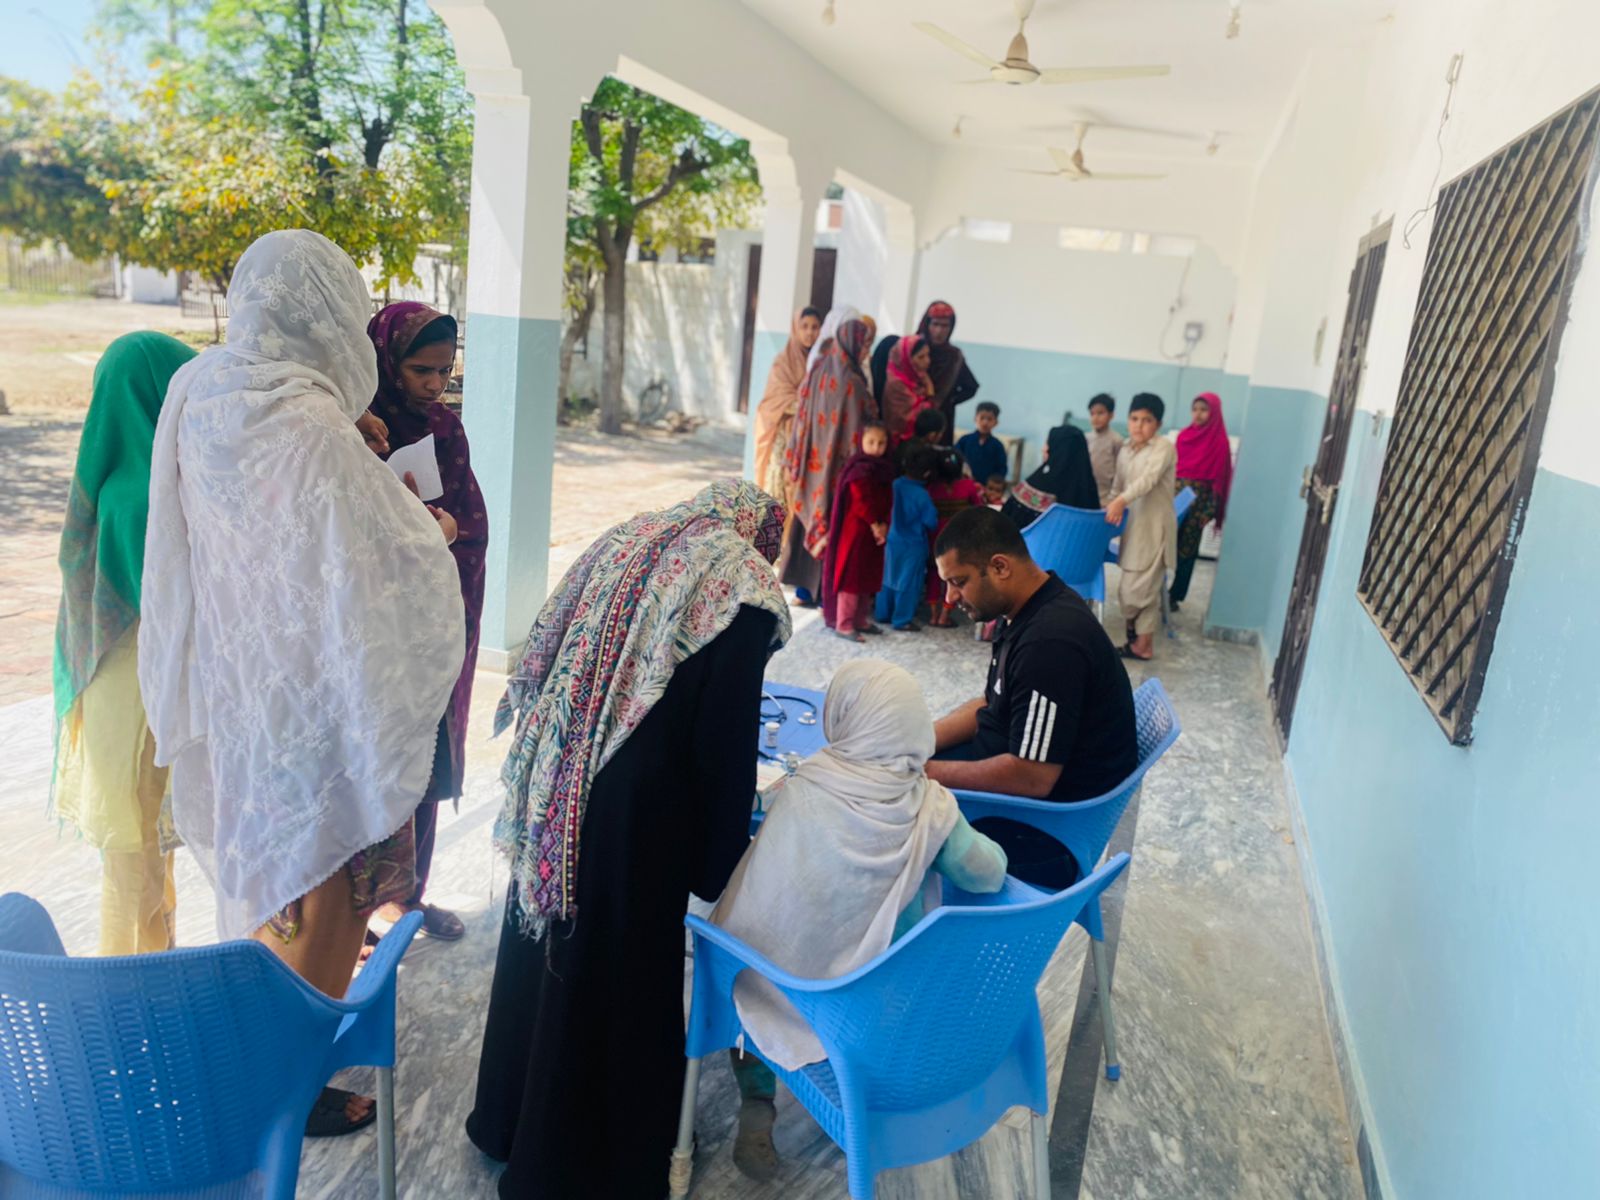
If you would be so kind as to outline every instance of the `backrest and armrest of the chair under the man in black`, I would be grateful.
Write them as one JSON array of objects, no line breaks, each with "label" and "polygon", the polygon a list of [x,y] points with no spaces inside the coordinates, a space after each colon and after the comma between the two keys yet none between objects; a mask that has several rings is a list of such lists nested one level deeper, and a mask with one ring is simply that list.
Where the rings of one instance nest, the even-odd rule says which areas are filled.
[{"label": "backrest and armrest of the chair under the man in black", "polygon": [[1166,688],[1158,678],[1147,678],[1133,693],[1134,738],[1139,746],[1139,765],[1133,774],[1106,795],[1093,800],[1061,803],[1058,800],[1027,800],[1016,795],[992,792],[955,792],[962,813],[968,821],[984,816],[1005,816],[1034,826],[1050,834],[1072,851],[1080,867],[1090,867],[1106,853],[1106,843],[1128,810],[1128,802],[1144,782],[1144,773],[1178,741],[1182,726],[1173,709]]}]

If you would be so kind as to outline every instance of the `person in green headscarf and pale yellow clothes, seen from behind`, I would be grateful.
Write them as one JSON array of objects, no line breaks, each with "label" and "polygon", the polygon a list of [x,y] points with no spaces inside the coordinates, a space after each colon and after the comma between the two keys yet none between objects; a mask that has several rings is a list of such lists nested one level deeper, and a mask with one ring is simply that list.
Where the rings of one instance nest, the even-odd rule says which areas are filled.
[{"label": "person in green headscarf and pale yellow clothes, seen from behind", "polygon": [[163,333],[106,347],[61,530],[54,808],[102,854],[101,954],[173,946],[166,768],[139,698],[139,581],[150,445],[166,384],[195,352]]}]

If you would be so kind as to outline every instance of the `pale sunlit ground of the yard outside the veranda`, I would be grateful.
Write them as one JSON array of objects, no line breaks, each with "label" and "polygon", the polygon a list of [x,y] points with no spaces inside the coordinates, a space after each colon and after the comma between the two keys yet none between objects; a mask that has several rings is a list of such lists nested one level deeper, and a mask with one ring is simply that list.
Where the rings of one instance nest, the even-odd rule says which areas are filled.
[{"label": "pale sunlit ground of the yard outside the veranda", "polygon": [[[10,501],[0,517],[0,706],[50,691],[61,595],[56,549],[90,382],[106,344],[133,330],[197,346],[211,341],[210,320],[184,320],[171,306],[16,304],[0,294],[0,390],[11,408],[0,416],[0,480]],[[688,437],[558,429],[552,584],[618,522],[736,475],[742,448],[742,434],[726,429]]]}]

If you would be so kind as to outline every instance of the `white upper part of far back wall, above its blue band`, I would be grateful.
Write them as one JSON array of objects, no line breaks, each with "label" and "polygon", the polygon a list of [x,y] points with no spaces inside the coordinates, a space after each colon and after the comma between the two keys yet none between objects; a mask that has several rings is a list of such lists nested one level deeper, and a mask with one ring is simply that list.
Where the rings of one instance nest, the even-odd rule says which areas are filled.
[{"label": "white upper part of far back wall, above its blue band", "polygon": [[1058,229],[1016,224],[1008,243],[938,242],[922,253],[915,312],[944,299],[958,341],[1138,362],[1174,358],[1194,320],[1206,331],[1192,365],[1222,365],[1235,285],[1210,246],[1192,259],[1062,250]]}]

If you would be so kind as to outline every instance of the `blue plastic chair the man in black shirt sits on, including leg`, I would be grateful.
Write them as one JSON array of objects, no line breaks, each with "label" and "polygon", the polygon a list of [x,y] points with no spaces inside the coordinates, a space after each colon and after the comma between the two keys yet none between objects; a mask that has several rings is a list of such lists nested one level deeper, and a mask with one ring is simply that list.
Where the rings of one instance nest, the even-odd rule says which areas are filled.
[{"label": "blue plastic chair the man in black shirt sits on, including leg", "polygon": [[[994,792],[957,792],[955,798],[968,821],[984,816],[1003,816],[1042,829],[1072,851],[1080,870],[1099,862],[1106,845],[1115,832],[1122,814],[1128,811],[1144,773],[1178,741],[1182,726],[1178,712],[1158,678],[1147,678],[1133,693],[1133,714],[1138,723],[1139,765],[1115,790],[1094,800],[1059,803],[1056,800],[1024,800],[1016,795]],[[1090,950],[1094,957],[1094,990],[1099,994],[1101,1027],[1106,1038],[1106,1078],[1122,1078],[1122,1062],[1117,1059],[1117,1022],[1110,1006],[1110,970],[1106,965],[1106,928],[1101,922],[1099,898],[1091,901],[1078,917],[1078,925],[1088,930]]]}]

